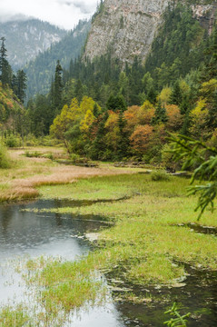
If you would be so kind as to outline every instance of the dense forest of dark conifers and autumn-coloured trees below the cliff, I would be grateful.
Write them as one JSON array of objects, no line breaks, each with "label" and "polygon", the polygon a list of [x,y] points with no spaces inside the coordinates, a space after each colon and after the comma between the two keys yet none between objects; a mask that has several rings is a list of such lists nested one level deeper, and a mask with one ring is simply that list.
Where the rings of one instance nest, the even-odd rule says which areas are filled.
[{"label": "dense forest of dark conifers and autumn-coloured trees below the cliff", "polygon": [[81,55],[68,70],[55,63],[49,93],[27,104],[24,133],[50,134],[94,160],[167,165],[168,133],[216,144],[216,58],[215,26],[209,35],[191,7],[169,5],[145,63],[122,67],[111,52],[93,62]]}]

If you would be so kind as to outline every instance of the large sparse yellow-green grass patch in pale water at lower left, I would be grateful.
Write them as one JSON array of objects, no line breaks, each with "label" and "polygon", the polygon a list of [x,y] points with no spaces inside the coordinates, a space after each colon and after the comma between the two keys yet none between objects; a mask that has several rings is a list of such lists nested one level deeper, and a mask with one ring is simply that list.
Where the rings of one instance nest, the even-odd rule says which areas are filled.
[{"label": "large sparse yellow-green grass patch in pale water at lower left", "polygon": [[[29,262],[27,267],[33,272],[35,264]],[[41,298],[46,311],[53,316],[60,310],[79,309],[86,302],[102,303],[106,297],[104,282],[98,278],[94,262],[88,259],[74,263],[48,261],[44,269],[37,269],[32,274],[29,282],[45,287]]]}]

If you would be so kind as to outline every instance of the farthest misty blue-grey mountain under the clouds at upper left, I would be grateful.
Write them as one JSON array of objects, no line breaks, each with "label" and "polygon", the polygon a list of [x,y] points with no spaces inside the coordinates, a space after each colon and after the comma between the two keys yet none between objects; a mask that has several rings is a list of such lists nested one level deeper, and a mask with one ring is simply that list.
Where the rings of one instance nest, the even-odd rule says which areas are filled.
[{"label": "farthest misty blue-grey mountain under the clouds at upper left", "polygon": [[0,37],[5,37],[7,60],[14,70],[23,67],[66,34],[67,31],[38,19],[0,23]]}]

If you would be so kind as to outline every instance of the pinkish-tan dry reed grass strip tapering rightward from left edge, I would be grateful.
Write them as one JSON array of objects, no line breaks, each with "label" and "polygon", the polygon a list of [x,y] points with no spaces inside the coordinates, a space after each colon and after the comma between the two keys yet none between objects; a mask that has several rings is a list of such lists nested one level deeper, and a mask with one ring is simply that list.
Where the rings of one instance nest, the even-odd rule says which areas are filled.
[{"label": "pinkish-tan dry reed grass strip tapering rightward from left edge", "polygon": [[[37,148],[37,151],[39,150]],[[55,154],[61,152],[59,149],[53,151]],[[2,202],[35,198],[39,195],[36,188],[42,185],[74,183],[80,178],[120,173],[119,169],[110,169],[109,166],[97,168],[68,166],[44,158],[27,158],[22,155],[24,153],[25,151],[20,149],[11,152],[17,167],[0,174],[1,183],[8,186],[0,190]],[[121,173],[132,173],[132,170],[122,170]]]}]

